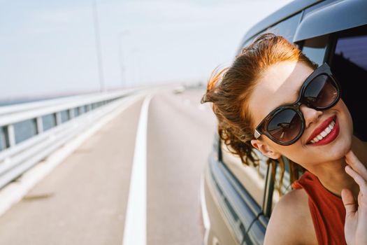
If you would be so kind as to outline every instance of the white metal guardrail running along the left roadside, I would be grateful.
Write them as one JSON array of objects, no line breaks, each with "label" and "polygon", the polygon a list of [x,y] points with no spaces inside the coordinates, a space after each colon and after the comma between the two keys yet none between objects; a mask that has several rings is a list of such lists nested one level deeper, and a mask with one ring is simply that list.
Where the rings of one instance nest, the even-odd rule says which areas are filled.
[{"label": "white metal guardrail running along the left roadside", "polygon": [[0,188],[66,144],[137,90],[0,107]]}]

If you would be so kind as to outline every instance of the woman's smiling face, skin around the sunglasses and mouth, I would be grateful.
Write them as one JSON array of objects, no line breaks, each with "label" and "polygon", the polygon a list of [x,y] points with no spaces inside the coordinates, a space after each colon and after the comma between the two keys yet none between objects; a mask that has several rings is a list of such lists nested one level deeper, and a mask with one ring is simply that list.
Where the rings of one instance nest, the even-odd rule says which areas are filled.
[{"label": "woman's smiling face, skin around the sunglasses and mouth", "polygon": [[[264,71],[250,95],[249,108],[253,128],[276,107],[291,104],[298,98],[298,90],[313,69],[303,62],[279,62]],[[310,165],[343,158],[352,144],[352,118],[342,99],[326,111],[317,111],[301,105],[305,118],[305,130],[296,143],[289,146],[276,144],[264,134],[251,141],[252,145],[270,158],[280,155],[297,162],[306,169]],[[336,116],[338,136],[327,144],[312,144],[308,141],[317,127]],[[329,122],[329,121],[327,121]]]}]

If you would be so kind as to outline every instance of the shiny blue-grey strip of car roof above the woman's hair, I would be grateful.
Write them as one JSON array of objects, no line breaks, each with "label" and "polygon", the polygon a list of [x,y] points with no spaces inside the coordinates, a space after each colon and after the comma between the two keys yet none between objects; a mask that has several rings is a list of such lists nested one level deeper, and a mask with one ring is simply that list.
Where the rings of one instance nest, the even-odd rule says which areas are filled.
[{"label": "shiny blue-grey strip of car roof above the woman's hair", "polygon": [[247,31],[242,43],[244,43],[248,38],[258,34],[260,31],[263,31],[264,29],[271,27],[272,25],[275,25],[278,22],[285,20],[286,18],[289,18],[290,16],[300,12],[301,10],[322,1],[324,0],[294,0],[288,3],[271,15],[268,15],[268,17],[266,17],[264,20],[261,20],[249,31]]}]

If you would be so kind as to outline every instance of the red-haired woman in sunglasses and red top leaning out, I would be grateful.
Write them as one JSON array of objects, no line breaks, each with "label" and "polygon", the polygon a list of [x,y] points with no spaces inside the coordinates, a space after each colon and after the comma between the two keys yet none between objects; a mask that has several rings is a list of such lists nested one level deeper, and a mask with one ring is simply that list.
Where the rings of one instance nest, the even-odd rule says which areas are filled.
[{"label": "red-haired woman in sunglasses and red top leaning out", "polygon": [[367,244],[367,144],[327,64],[263,34],[213,73],[202,102],[213,102],[220,137],[244,163],[256,148],[307,170],[275,206],[265,244]]}]

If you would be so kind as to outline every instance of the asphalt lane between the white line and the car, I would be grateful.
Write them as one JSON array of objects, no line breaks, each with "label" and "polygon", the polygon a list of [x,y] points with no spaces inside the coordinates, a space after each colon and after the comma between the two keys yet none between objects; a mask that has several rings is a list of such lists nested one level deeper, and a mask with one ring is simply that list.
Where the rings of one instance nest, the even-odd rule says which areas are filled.
[{"label": "asphalt lane between the white line and the car", "polygon": [[160,93],[147,129],[147,244],[201,244],[199,186],[215,120],[203,91]]}]

